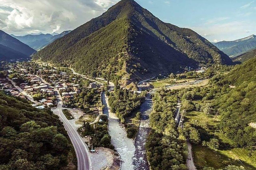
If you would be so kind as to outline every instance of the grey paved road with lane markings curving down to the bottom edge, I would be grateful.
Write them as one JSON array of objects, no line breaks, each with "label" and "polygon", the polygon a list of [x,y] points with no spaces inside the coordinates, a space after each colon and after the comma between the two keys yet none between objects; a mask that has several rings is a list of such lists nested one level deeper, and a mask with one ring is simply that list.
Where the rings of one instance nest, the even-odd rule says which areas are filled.
[{"label": "grey paved road with lane markings curving down to the bottom edge", "polygon": [[[56,92],[57,93],[57,92]],[[52,109],[53,113],[58,115],[60,121],[63,123],[65,129],[68,132],[70,140],[74,145],[76,157],[77,157],[77,169],[78,170],[91,170],[91,160],[89,157],[88,147],[83,142],[81,136],[77,130],[70,124],[65,115],[62,112],[62,102],[60,95],[57,95],[58,105],[56,109]]]}]

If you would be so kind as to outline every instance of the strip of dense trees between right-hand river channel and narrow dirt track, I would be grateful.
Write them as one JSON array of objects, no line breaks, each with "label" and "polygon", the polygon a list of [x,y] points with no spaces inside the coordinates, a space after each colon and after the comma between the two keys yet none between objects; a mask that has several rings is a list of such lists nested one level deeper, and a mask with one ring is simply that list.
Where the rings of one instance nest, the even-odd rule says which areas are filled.
[{"label": "strip of dense trees between right-hand river channel and narrow dirt track", "polygon": [[152,170],[186,170],[186,137],[176,128],[175,91],[158,91],[153,97],[150,115],[152,128],[146,143],[147,158]]}]

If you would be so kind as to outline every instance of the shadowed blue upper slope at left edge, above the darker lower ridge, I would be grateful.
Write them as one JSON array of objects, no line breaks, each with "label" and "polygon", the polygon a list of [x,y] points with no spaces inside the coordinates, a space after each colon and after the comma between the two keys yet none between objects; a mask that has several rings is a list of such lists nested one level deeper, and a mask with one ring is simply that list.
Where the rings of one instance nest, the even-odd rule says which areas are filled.
[{"label": "shadowed blue upper slope at left edge, above the darker lower ridge", "polygon": [[[30,48],[28,45],[20,42],[19,40],[13,38],[9,34],[6,34],[0,30],[0,44],[12,48],[16,51],[23,53],[26,56],[30,56],[34,52],[34,49]],[[0,58],[1,59],[1,58]]]}]

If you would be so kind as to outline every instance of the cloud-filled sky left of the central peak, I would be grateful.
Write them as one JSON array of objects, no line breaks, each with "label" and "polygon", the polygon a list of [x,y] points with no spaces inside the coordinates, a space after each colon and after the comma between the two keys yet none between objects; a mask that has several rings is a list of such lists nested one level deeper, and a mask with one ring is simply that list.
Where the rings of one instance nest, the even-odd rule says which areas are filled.
[{"label": "cloud-filled sky left of the central peak", "polygon": [[119,0],[0,0],[0,29],[15,35],[73,30]]}]

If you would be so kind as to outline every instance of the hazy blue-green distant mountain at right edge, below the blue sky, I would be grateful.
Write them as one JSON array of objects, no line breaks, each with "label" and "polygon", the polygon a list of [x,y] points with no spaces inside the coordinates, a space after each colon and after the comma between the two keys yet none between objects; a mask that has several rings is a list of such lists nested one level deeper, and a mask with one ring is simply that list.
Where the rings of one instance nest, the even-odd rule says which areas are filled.
[{"label": "hazy blue-green distant mountain at right edge, below the blue sky", "polygon": [[220,50],[230,57],[238,56],[248,50],[256,48],[256,36],[235,40],[235,41],[222,41],[214,43]]}]

